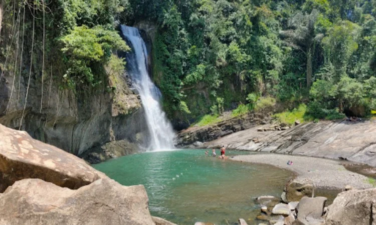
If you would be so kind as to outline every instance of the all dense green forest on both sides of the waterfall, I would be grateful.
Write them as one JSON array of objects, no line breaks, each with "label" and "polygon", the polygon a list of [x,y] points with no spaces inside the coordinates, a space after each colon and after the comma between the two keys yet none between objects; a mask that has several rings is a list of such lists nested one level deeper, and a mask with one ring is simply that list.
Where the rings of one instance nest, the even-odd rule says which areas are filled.
[{"label": "all dense green forest on both sides of the waterfall", "polygon": [[118,24],[153,24],[152,78],[171,119],[259,101],[304,104],[312,118],[376,110],[376,0],[4,0],[2,8],[3,71],[38,70],[43,82],[53,69],[76,92],[113,90],[106,74],[121,72],[116,51],[129,49]]}]

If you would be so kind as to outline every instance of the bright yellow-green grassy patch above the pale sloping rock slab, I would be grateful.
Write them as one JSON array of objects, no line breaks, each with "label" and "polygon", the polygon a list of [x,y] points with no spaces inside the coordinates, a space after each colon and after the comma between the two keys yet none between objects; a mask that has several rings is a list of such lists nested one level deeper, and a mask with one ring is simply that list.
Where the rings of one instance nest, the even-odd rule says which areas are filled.
[{"label": "bright yellow-green grassy patch above the pale sloping rock slab", "polygon": [[309,116],[306,116],[306,111],[307,111],[307,105],[300,104],[298,108],[294,108],[291,111],[285,111],[285,112],[274,114],[273,117],[278,119],[278,121],[282,123],[292,125],[294,124],[296,120],[300,120],[300,122],[311,121],[312,118]]}]

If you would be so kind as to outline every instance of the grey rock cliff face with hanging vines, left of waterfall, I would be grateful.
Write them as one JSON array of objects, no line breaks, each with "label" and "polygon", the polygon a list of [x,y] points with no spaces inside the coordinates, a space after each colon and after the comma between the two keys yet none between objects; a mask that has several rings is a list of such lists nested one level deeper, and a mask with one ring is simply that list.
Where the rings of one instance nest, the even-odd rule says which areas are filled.
[{"label": "grey rock cliff face with hanging vines, left of waterfall", "polygon": [[[90,96],[77,96],[69,90],[59,90],[52,83],[44,88],[42,110],[41,86],[32,79],[22,122],[27,81],[12,90],[14,77],[5,75],[0,81],[0,123],[26,130],[32,137],[58,146],[76,155],[109,141],[128,139],[145,130],[143,111],[136,94],[128,89],[120,103],[105,90]],[[45,85],[46,86],[46,85]],[[20,91],[20,96],[18,96]]]}]

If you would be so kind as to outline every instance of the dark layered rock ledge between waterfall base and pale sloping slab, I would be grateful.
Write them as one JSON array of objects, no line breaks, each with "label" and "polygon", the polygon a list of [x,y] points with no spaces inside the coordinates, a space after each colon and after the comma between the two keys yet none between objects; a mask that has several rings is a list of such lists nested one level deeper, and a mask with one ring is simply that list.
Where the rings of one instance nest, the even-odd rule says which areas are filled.
[{"label": "dark layered rock ledge between waterfall base and pale sloping slab", "polygon": [[268,114],[248,113],[246,115],[243,115],[242,117],[225,119],[224,121],[218,122],[214,125],[207,125],[201,127],[194,126],[186,130],[180,131],[177,134],[176,142],[178,146],[186,146],[191,145],[197,141],[206,142],[215,140],[219,137],[223,137],[231,133],[238,132],[240,130],[255,127],[260,123],[264,123],[268,117]]}]

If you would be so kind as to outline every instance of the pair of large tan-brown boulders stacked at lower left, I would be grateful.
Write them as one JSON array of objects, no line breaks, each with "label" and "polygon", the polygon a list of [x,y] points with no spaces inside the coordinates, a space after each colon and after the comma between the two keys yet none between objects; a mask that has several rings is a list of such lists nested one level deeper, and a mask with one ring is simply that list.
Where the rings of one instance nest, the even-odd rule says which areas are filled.
[{"label": "pair of large tan-brown boulders stacked at lower left", "polygon": [[0,124],[0,136],[0,225],[173,225],[150,215],[143,185],[121,185],[25,131]]}]

